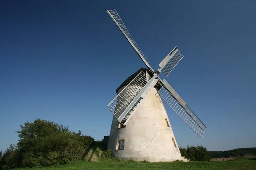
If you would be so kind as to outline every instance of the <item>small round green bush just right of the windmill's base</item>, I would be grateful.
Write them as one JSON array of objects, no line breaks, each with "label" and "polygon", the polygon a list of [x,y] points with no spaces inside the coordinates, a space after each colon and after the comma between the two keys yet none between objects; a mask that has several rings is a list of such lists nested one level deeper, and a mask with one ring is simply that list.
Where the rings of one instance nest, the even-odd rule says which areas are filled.
[{"label": "small round green bush just right of the windmill's base", "polygon": [[211,159],[206,147],[202,145],[190,146],[186,148],[180,147],[181,156],[185,156],[190,161],[209,161]]}]

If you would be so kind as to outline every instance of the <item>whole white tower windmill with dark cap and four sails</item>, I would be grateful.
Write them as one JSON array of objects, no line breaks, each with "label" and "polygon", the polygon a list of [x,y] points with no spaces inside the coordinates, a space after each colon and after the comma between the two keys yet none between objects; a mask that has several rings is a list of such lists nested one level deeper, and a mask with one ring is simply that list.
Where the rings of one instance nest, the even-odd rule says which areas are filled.
[{"label": "whole white tower windmill with dark cap and four sails", "polygon": [[147,66],[128,77],[108,104],[113,113],[108,149],[120,160],[186,161],[180,155],[162,99],[201,138],[206,126],[171,85],[159,77],[163,72],[167,78],[183,55],[176,46],[154,71],[116,10],[106,12]]}]

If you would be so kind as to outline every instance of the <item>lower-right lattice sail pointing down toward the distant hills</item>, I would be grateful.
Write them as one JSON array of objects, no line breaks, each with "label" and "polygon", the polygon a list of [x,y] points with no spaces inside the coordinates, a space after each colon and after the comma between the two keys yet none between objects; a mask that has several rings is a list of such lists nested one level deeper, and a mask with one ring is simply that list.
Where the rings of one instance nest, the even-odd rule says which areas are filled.
[{"label": "lower-right lattice sail pointing down toward the distant hills", "polygon": [[196,114],[189,108],[186,102],[181,99],[181,97],[174,91],[171,85],[163,79],[163,86],[160,88],[158,93],[166,101],[166,103],[172,108],[175,113],[187,124],[189,127],[195,131],[201,138],[204,135],[204,129],[206,126],[204,123],[196,116]]}]

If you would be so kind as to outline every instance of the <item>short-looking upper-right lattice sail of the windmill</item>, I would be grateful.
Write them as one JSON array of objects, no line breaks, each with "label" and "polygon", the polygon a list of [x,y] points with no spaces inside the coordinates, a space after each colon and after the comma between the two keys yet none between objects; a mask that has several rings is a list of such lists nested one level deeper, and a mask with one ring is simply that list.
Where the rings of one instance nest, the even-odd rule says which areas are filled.
[{"label": "short-looking upper-right lattice sail of the windmill", "polygon": [[180,60],[183,58],[183,55],[178,50],[177,46],[163,59],[162,62],[160,62],[159,71],[163,71],[164,76],[167,78],[167,76],[170,74],[173,68],[180,62]]}]

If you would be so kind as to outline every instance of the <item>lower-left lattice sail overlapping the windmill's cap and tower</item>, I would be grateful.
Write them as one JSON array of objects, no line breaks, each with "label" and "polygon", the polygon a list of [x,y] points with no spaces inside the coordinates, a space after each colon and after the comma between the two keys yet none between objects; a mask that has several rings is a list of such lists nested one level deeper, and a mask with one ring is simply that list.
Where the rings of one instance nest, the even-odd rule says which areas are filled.
[{"label": "lower-left lattice sail overlapping the windmill's cap and tower", "polygon": [[[116,117],[118,122],[122,120],[128,120],[130,112],[133,108],[138,105],[141,95],[140,92],[143,90],[145,85],[151,79],[143,71],[140,72],[109,104],[108,108]],[[138,99],[136,99],[138,98]],[[137,100],[134,102],[134,100]],[[134,102],[134,105],[133,105]],[[125,122],[126,124],[127,122]],[[124,124],[124,125],[125,125]]]}]

